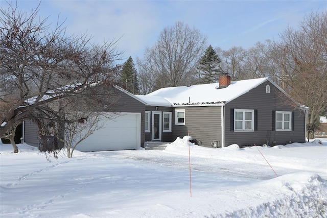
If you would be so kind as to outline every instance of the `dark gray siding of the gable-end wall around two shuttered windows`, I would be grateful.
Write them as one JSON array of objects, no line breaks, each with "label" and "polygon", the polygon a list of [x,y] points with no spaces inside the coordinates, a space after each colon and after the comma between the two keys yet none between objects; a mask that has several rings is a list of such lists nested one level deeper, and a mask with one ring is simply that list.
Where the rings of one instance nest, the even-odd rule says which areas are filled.
[{"label": "dark gray siding of the gable-end wall around two shuttered windows", "polygon": [[[266,93],[270,85],[270,93]],[[267,132],[271,131],[269,145],[305,141],[305,111],[287,105],[289,98],[269,81],[243,94],[225,106],[225,146],[236,143],[250,146],[254,143],[262,146],[266,142]],[[258,128],[254,132],[230,131],[230,109],[258,110]],[[273,130],[273,111],[294,111],[294,131],[277,132]]]}]

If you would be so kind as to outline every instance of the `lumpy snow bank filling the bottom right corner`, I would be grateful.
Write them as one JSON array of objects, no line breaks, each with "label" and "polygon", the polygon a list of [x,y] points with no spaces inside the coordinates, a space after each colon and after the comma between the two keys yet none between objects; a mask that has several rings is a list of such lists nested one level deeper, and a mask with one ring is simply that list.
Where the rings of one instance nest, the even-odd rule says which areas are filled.
[{"label": "lumpy snow bank filling the bottom right corner", "polygon": [[[288,174],[260,182],[247,192],[249,199],[266,201],[212,217],[326,217],[327,184],[317,174]],[[253,193],[252,193],[253,192]],[[269,194],[270,193],[270,194]],[[274,194],[272,194],[274,193]]]}]

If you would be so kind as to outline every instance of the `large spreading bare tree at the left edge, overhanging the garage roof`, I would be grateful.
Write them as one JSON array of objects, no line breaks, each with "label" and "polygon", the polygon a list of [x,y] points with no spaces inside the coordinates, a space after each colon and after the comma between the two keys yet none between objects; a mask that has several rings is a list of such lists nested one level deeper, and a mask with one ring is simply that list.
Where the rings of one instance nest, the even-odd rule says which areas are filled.
[{"label": "large spreading bare tree at the left edge, overhanging the garage roof", "polygon": [[78,98],[90,108],[104,105],[91,90],[115,80],[116,41],[90,44],[85,34],[66,36],[59,23],[50,30],[47,19],[37,17],[38,9],[28,15],[8,3],[0,11],[0,102],[10,104],[0,120],[2,138],[25,119],[46,120],[49,126],[87,118],[65,119],[54,107],[60,99]]}]

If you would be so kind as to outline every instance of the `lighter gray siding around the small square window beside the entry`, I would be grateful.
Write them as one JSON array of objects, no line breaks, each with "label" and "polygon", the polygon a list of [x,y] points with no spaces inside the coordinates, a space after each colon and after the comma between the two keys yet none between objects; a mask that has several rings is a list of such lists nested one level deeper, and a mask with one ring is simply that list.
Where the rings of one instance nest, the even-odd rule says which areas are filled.
[{"label": "lighter gray siding around the small square window beside the entry", "polygon": [[[175,125],[175,110],[185,110],[185,125]],[[173,111],[173,140],[190,134],[200,145],[212,147],[214,140],[221,141],[221,107],[176,107]]]}]

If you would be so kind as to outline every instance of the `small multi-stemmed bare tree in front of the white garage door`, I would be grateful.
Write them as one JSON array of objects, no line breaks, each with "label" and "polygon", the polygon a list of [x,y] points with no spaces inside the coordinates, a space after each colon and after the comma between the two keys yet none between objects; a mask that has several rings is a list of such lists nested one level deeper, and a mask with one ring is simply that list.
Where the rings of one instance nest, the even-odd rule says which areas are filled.
[{"label": "small multi-stemmed bare tree in front of the white garage door", "polygon": [[[117,96],[115,92],[108,89],[106,86],[102,87],[105,90],[101,90],[101,87],[97,87],[98,91],[91,93],[92,96],[95,96],[95,99],[99,99],[96,96],[96,92],[100,93],[102,96],[101,107],[90,107],[90,105],[96,105],[89,101],[81,101],[80,98],[66,98],[60,101],[57,101],[57,108],[60,108],[60,112],[63,120],[66,120],[61,127],[63,130],[60,130],[60,125],[56,132],[63,133],[63,137],[59,137],[58,140],[63,142],[63,147],[67,152],[67,157],[71,158],[73,156],[74,150],[78,147],[80,142],[86,139],[88,136],[103,128],[106,120],[112,119],[118,113],[110,112],[112,108],[110,106],[116,105],[117,98],[110,98],[110,96]],[[109,96],[109,97],[108,97]],[[73,104],[71,104],[73,102]],[[97,100],[98,102],[98,100]],[[78,107],[78,109],[76,108]],[[79,120],[76,120],[76,117],[81,117]],[[72,121],[73,120],[73,121]],[[49,125],[48,125],[49,126]]]}]

